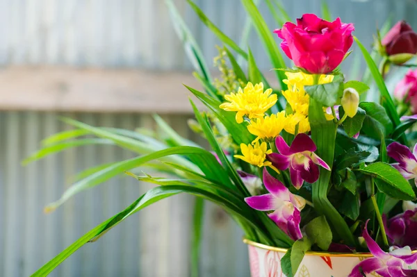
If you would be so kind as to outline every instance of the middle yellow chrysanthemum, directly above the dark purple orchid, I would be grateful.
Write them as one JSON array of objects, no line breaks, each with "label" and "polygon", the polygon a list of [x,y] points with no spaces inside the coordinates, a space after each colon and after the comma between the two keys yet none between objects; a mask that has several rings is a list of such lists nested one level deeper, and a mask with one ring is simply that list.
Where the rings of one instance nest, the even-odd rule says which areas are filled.
[{"label": "middle yellow chrysanthemum, directly above the dark purple orchid", "polygon": [[256,135],[256,140],[252,142],[254,144],[260,139],[271,141],[281,133],[286,124],[285,112],[278,112],[276,115],[272,114],[263,118],[255,119],[247,126],[247,130]]}]

